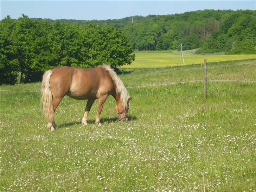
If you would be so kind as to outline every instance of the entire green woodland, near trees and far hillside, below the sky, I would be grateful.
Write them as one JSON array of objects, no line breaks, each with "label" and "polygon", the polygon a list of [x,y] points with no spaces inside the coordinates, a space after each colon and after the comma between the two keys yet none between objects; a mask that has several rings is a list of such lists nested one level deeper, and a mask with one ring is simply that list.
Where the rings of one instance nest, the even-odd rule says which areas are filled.
[{"label": "entire green woodland, near trees and far hillside, below the sky", "polygon": [[8,15],[0,21],[0,84],[40,81],[57,66],[131,64],[133,51],[197,49],[255,54],[256,11],[213,10],[113,20],[51,20]]}]

